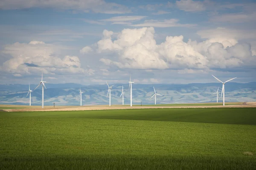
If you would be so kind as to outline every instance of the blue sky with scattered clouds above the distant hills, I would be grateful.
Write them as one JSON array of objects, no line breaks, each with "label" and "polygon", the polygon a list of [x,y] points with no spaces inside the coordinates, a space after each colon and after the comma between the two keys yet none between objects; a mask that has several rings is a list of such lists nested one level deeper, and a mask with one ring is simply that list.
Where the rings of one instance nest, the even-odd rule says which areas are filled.
[{"label": "blue sky with scattered clouds above the distant hills", "polygon": [[256,81],[254,0],[1,0],[0,84]]}]

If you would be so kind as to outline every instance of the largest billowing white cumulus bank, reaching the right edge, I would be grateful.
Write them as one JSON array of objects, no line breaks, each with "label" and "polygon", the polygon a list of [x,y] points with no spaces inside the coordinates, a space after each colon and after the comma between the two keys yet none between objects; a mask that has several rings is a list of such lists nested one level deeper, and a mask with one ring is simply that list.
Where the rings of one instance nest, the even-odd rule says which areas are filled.
[{"label": "largest billowing white cumulus bank, reaching the right edge", "polygon": [[111,57],[100,59],[108,66],[146,70],[186,69],[186,72],[255,67],[256,56],[252,55],[250,44],[238,43],[230,37],[184,42],[183,36],[167,36],[163,43],[157,44],[153,27],[123,29],[116,39],[113,34],[104,30],[95,49],[103,55],[113,53]]}]

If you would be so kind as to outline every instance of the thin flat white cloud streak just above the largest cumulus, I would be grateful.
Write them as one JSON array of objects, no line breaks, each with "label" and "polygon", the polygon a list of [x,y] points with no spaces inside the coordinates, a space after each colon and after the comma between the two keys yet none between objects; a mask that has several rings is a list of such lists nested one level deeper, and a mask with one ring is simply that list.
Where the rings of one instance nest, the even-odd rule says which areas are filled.
[{"label": "thin flat white cloud streak just above the largest cumulus", "polygon": [[196,24],[181,24],[178,23],[177,19],[170,20],[145,20],[144,23],[134,24],[131,26],[153,26],[153,27],[192,27],[196,26]]}]

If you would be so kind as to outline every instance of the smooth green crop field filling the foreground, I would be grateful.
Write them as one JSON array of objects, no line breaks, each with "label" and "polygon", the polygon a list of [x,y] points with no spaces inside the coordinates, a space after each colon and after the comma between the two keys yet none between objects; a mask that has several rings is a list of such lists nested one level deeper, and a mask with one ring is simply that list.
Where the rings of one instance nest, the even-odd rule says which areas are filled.
[{"label": "smooth green crop field filling the foreground", "polygon": [[256,108],[0,112],[0,169],[255,169]]}]

